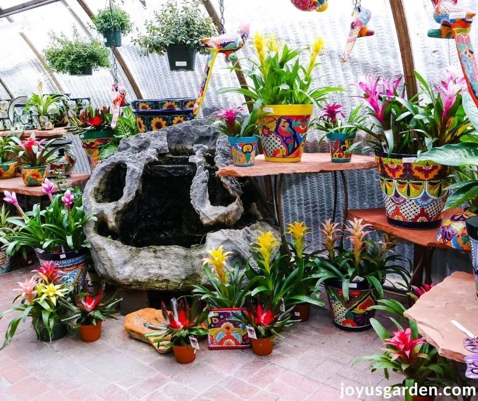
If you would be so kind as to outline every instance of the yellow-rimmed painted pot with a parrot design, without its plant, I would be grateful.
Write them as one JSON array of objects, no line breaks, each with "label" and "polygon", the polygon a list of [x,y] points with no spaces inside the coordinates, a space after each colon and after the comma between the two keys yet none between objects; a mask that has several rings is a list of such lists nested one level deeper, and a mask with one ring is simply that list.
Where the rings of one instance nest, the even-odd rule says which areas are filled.
[{"label": "yellow-rimmed painted pot with a parrot design, without its plant", "polygon": [[314,106],[290,104],[262,106],[260,141],[266,161],[301,161]]}]

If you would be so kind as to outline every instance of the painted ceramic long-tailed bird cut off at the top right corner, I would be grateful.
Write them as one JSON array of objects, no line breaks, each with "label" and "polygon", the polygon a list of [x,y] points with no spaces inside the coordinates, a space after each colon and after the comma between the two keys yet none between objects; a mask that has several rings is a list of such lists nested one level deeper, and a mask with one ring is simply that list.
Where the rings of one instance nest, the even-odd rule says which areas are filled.
[{"label": "painted ceramic long-tailed bird cut off at the top right corner", "polygon": [[428,31],[430,38],[455,39],[468,92],[478,107],[478,64],[471,44],[471,23],[476,15],[458,5],[458,0],[431,0],[433,18],[441,26]]}]

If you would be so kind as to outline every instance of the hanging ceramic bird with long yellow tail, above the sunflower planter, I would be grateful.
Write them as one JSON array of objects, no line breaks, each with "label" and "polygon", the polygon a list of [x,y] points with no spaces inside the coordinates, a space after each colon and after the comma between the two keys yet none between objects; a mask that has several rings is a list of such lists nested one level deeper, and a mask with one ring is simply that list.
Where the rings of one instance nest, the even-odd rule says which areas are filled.
[{"label": "hanging ceramic bird with long yellow tail, above the sunflower planter", "polygon": [[224,53],[226,61],[228,62],[237,61],[237,55],[235,52],[244,46],[248,37],[249,24],[241,24],[239,30],[235,34],[226,33],[213,38],[204,38],[202,40],[201,47],[207,49],[209,51],[209,55],[207,56],[207,62],[202,74],[199,95],[193,108],[193,114],[195,116],[199,112],[202,102],[204,101],[204,96],[207,91],[207,86],[209,85],[209,80],[211,79],[214,62],[216,61],[216,56],[218,53]]}]

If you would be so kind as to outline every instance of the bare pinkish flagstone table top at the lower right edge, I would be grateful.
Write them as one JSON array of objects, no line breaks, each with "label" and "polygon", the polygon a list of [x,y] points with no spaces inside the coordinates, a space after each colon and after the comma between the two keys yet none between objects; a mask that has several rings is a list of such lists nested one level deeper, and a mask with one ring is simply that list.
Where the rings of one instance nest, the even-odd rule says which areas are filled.
[{"label": "bare pinkish flagstone table top at the lower right edge", "polygon": [[456,320],[478,335],[477,314],[474,277],[465,272],[446,277],[405,311],[405,316],[417,323],[420,334],[440,355],[458,362],[464,362],[464,357],[471,352],[463,347],[467,335],[450,321]]}]

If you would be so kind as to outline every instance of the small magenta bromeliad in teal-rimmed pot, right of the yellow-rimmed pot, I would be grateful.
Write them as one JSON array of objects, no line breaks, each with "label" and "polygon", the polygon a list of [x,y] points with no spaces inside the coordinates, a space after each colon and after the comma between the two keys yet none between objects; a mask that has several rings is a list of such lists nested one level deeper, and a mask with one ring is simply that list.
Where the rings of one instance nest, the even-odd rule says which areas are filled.
[{"label": "small magenta bromeliad in teal-rimmed pot, right of the yellow-rimmed pot", "polygon": [[[331,158],[334,163],[346,163],[352,160],[352,143],[357,135],[359,127],[353,124],[361,124],[366,116],[359,115],[361,106],[354,108],[345,121],[343,106],[338,103],[327,104],[323,107],[317,124],[314,128],[326,132]],[[323,139],[323,138],[322,138]],[[320,141],[322,141],[320,139]]]}]

